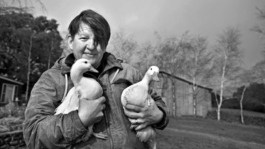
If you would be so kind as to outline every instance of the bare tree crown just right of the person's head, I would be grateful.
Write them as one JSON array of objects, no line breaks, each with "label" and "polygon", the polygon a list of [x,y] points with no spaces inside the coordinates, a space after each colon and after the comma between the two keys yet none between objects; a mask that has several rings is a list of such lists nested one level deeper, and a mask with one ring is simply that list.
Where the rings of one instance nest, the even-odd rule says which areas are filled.
[{"label": "bare tree crown just right of the person's head", "polygon": [[121,59],[129,64],[132,55],[138,47],[137,42],[133,40],[133,36],[127,36],[122,29],[113,35],[111,45],[110,52],[113,53],[117,59]]}]

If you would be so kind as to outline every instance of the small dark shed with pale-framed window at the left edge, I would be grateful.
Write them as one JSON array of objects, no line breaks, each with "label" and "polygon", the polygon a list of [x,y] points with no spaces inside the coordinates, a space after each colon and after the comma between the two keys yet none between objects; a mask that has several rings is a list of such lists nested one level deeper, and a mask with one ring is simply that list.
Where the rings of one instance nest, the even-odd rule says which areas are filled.
[{"label": "small dark shed with pale-framed window at the left edge", "polygon": [[21,101],[21,90],[23,83],[0,76],[0,106],[9,101]]}]

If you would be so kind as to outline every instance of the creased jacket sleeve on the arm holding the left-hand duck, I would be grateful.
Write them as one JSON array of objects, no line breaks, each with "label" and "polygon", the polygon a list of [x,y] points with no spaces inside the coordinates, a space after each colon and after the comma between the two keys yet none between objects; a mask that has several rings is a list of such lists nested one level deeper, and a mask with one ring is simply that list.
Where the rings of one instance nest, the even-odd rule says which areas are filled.
[{"label": "creased jacket sleeve on the arm holding the left-hand duck", "polygon": [[54,116],[56,107],[56,85],[42,75],[31,91],[22,125],[29,148],[65,148],[88,132],[77,110]]}]

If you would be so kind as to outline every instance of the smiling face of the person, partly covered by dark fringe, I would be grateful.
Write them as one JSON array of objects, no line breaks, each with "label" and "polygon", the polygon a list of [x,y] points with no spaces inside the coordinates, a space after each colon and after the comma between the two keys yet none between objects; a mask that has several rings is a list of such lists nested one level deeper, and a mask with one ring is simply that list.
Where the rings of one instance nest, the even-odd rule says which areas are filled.
[{"label": "smiling face of the person, partly covered by dark fringe", "polygon": [[81,23],[79,32],[74,36],[74,38],[67,37],[68,45],[76,60],[85,58],[89,60],[94,68],[97,68],[106,52],[106,49],[101,49],[100,45],[96,47],[96,42],[94,40],[94,33],[88,25]]}]

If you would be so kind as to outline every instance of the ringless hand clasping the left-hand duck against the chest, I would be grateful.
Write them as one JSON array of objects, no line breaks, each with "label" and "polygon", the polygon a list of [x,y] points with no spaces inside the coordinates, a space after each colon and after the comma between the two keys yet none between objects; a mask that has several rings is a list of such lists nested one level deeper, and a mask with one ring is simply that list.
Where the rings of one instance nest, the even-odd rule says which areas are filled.
[{"label": "ringless hand clasping the left-hand duck against the chest", "polygon": [[78,116],[85,127],[99,122],[103,116],[102,110],[106,108],[104,96],[95,100],[79,100]]}]

